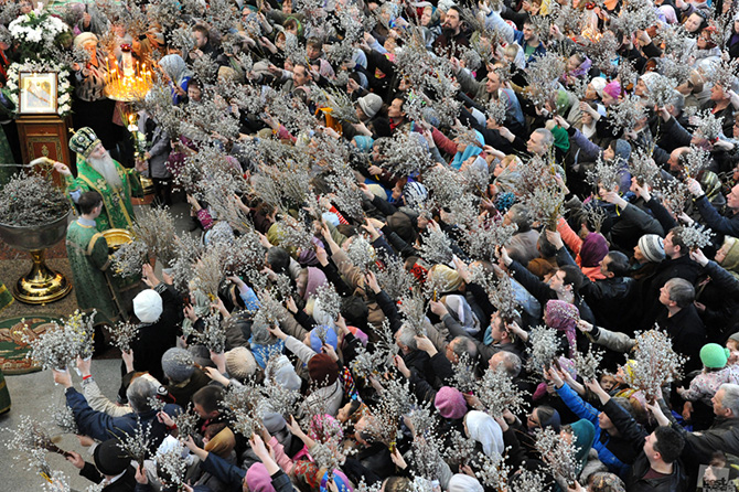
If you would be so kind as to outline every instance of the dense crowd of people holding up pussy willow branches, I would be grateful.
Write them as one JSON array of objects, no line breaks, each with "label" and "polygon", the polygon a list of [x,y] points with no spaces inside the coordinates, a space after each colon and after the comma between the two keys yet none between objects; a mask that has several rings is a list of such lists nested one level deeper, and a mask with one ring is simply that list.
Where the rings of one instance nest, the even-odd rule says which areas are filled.
[{"label": "dense crowd of people holding up pussy willow branches", "polygon": [[[81,174],[55,165],[81,307],[137,330],[117,396],[54,371],[103,490],[736,489],[735,3],[47,9],[87,53]],[[106,93],[121,51],[159,74],[144,143]],[[125,306],[96,233],[136,229],[139,172],[202,240],[140,224],[173,268],[135,265]]]}]

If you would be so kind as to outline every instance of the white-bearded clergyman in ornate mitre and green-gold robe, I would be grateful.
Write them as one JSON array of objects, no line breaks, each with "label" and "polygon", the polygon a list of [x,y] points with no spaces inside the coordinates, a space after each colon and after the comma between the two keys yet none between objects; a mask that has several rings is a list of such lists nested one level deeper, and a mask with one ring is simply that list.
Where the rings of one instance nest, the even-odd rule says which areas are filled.
[{"label": "white-bearded clergyman in ornate mitre and green-gold robe", "polygon": [[77,178],[62,162],[54,163],[54,169],[64,175],[72,200],[76,202],[82,193],[96,191],[103,196],[104,205],[103,213],[95,220],[97,231],[130,228],[136,220],[131,193],[140,196],[139,172],[146,170],[146,161],[137,163],[137,169],[124,168],[88,127],[72,136],[69,149],[77,153]]}]

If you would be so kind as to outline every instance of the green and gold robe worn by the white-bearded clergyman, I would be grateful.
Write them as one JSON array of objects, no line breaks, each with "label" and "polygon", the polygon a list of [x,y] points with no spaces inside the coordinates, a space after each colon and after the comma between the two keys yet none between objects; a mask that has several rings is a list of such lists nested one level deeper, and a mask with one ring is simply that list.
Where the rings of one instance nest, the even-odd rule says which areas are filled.
[{"label": "green and gold robe worn by the white-bearded clergyman", "polygon": [[68,191],[96,191],[103,196],[103,213],[95,220],[99,232],[110,228],[130,229],[136,220],[131,195],[141,196],[141,181],[139,172],[126,169],[116,160],[113,161],[118,170],[122,189],[113,189],[89,163],[77,154],[77,178],[66,177]]}]

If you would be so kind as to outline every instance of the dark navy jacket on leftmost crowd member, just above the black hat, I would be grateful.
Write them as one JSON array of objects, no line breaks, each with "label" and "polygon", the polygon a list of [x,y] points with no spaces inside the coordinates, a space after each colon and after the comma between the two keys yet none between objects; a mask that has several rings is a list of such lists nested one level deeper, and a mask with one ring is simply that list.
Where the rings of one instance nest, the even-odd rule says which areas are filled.
[{"label": "dark navy jacket on leftmost crowd member, just above the black hat", "polygon": [[[169,434],[167,426],[157,420],[156,410],[113,417],[104,411],[92,409],[85,397],[73,387],[67,388],[65,394],[66,404],[72,408],[77,428],[83,436],[89,436],[99,441],[108,440],[111,437],[125,438],[133,434],[138,426],[138,420],[140,420],[143,425],[151,425],[151,446],[149,449],[156,452],[159,445],[161,445],[164,437]],[[167,415],[174,416],[181,411],[182,408],[178,405],[164,405],[164,413]]]}]

